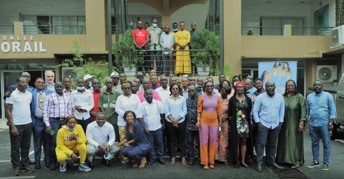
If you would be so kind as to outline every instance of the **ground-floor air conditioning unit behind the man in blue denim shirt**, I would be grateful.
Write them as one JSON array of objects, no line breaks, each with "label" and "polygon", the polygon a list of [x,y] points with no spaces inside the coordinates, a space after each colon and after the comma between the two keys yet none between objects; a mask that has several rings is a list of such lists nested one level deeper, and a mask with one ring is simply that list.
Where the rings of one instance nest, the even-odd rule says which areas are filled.
[{"label": "ground-floor air conditioning unit behind the man in blue denim shirt", "polygon": [[316,79],[324,83],[332,83],[338,76],[337,66],[335,65],[318,65],[316,66]]}]

